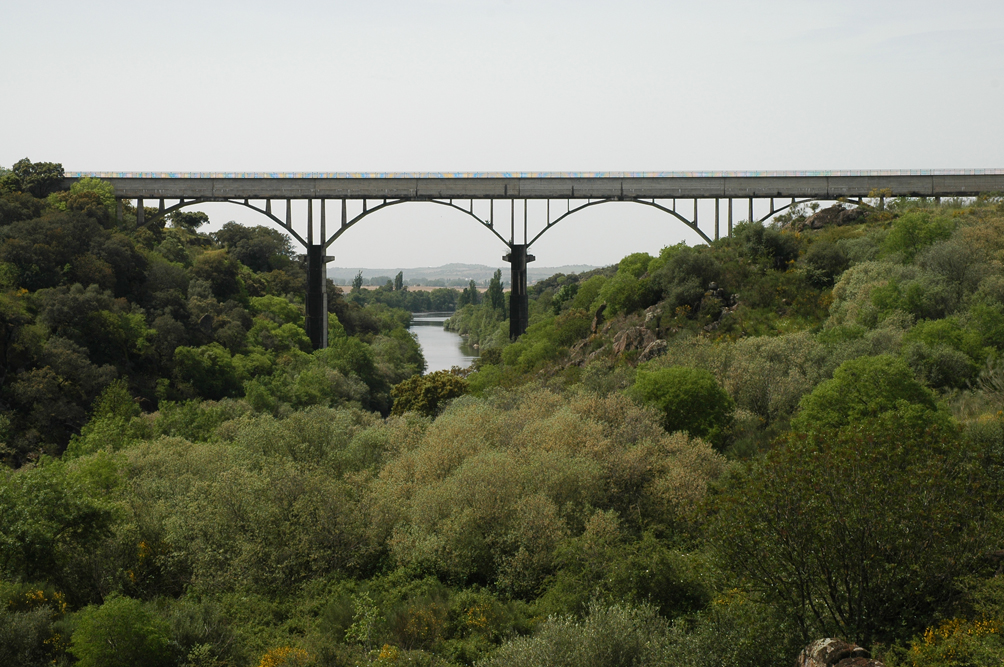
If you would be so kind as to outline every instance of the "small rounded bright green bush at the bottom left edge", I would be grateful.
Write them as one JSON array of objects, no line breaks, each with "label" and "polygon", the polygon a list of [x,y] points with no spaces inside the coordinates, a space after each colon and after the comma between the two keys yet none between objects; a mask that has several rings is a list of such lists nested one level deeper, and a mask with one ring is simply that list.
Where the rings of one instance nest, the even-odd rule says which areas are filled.
[{"label": "small rounded bright green bush at the bottom left edge", "polygon": [[69,652],[79,667],[168,667],[175,664],[170,629],[139,600],[110,597],[76,616]]}]

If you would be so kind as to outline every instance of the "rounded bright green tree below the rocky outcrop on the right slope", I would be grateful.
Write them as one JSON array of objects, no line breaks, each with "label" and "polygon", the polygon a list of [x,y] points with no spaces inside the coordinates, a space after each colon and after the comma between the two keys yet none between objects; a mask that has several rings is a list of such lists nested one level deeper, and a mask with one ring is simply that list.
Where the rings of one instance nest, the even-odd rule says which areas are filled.
[{"label": "rounded bright green tree below the rocky outcrop on the right slope", "polygon": [[655,371],[640,366],[628,395],[659,409],[667,431],[686,431],[715,444],[721,444],[735,410],[735,403],[715,376],[683,366]]}]

